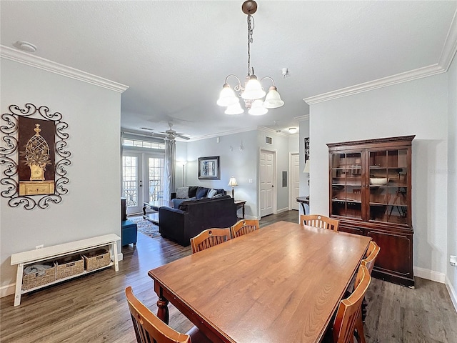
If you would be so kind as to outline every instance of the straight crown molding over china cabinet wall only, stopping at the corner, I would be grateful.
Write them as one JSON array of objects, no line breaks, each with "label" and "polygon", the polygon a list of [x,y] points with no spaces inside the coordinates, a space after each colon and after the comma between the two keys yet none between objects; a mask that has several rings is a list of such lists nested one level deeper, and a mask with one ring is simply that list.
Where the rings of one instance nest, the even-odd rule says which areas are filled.
[{"label": "straight crown molding over china cabinet wall only, stopping at the corner", "polygon": [[427,76],[441,74],[444,71],[446,70],[438,64],[433,64],[431,66],[424,66],[422,68],[406,71],[404,73],[383,77],[382,79],[368,81],[363,84],[356,84],[355,86],[337,89],[336,91],[329,91],[328,93],[310,96],[308,98],[303,99],[303,101],[305,101],[306,104],[309,105],[318,104],[319,102],[338,99],[342,98],[343,96],[350,96],[358,93],[363,93],[363,91],[371,91],[373,89],[392,86],[393,84],[401,84],[406,81],[412,81]]}]

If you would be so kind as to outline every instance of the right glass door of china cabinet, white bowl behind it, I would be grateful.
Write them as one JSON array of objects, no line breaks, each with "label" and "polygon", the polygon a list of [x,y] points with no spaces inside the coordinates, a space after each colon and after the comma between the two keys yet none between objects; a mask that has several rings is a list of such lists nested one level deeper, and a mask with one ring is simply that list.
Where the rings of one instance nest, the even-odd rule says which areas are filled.
[{"label": "right glass door of china cabinet, white bowl behind it", "polygon": [[408,224],[408,150],[370,151],[370,220]]}]

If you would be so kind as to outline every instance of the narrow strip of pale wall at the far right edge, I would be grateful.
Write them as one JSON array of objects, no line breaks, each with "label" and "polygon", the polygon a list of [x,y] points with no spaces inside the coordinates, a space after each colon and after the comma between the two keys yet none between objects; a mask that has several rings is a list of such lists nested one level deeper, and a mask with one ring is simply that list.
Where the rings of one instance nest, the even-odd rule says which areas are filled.
[{"label": "narrow strip of pale wall at the far right edge", "polygon": [[[448,256],[457,255],[457,57],[448,69]],[[448,257],[447,257],[448,261]],[[457,267],[446,263],[446,284],[457,310]]]}]

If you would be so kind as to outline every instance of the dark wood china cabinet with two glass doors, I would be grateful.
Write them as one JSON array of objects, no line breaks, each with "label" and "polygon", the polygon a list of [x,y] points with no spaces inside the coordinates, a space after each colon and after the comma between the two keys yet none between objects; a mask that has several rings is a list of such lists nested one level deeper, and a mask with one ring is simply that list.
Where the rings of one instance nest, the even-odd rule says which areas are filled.
[{"label": "dark wood china cabinet with two glass doors", "polygon": [[342,232],[380,247],[373,277],[414,287],[411,141],[414,136],[328,145],[330,216]]}]

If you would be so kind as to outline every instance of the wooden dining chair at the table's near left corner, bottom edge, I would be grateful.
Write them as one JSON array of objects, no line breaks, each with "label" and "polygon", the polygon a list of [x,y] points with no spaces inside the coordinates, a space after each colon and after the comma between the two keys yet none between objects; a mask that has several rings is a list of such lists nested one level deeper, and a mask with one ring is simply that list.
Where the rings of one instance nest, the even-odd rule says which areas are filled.
[{"label": "wooden dining chair at the table's near left corner, bottom edge", "polygon": [[138,343],[209,343],[211,342],[199,329],[193,327],[186,334],[177,332],[161,321],[138,298],[131,287],[126,288],[131,320],[134,323]]}]

